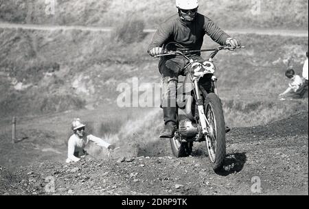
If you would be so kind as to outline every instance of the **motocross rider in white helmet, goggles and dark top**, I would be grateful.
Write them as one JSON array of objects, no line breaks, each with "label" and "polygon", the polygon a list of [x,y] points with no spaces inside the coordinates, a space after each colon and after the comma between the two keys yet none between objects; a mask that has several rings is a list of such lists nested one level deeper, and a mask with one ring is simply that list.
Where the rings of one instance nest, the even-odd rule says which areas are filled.
[{"label": "motocross rider in white helmet, goggles and dark top", "polygon": [[[176,0],[178,14],[171,16],[155,32],[152,42],[148,47],[150,56],[158,56],[163,53],[163,45],[176,42],[183,47],[175,46],[173,50],[200,50],[205,34],[219,45],[239,47],[240,42],[231,38],[222,31],[207,16],[198,13],[198,0]],[[201,53],[191,55],[194,60],[203,60]],[[163,79],[163,118],[165,127],[160,133],[160,138],[172,138],[176,131],[177,108],[176,88],[181,69],[185,67],[187,60],[182,56],[164,56],[159,60],[159,72]]]}]

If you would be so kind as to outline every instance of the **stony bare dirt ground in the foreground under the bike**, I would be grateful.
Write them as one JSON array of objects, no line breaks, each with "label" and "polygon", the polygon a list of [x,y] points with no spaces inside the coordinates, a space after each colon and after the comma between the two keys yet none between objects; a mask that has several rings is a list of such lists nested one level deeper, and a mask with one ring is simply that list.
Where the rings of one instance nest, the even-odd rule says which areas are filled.
[{"label": "stony bare dirt ground in the foreground under the bike", "polygon": [[[188,158],[172,157],[168,141],[161,146],[164,157],[117,162],[114,153],[117,158],[43,162],[13,174],[0,167],[0,194],[308,195],[308,112],[232,130],[220,173],[212,171],[202,145]],[[55,190],[47,193],[51,179]]]}]

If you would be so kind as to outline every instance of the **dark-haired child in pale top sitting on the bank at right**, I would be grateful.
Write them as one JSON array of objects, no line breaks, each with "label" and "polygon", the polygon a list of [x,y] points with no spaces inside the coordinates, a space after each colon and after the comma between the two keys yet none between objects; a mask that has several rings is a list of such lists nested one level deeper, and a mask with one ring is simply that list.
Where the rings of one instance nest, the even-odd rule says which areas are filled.
[{"label": "dark-haired child in pale top sitting on the bank at right", "polygon": [[288,69],[286,71],[286,77],[291,80],[288,84],[288,88],[284,91],[284,93],[279,94],[282,100],[284,99],[301,99],[302,98],[302,87],[304,84],[304,80],[301,79],[299,75],[295,75],[295,71],[293,69]]}]

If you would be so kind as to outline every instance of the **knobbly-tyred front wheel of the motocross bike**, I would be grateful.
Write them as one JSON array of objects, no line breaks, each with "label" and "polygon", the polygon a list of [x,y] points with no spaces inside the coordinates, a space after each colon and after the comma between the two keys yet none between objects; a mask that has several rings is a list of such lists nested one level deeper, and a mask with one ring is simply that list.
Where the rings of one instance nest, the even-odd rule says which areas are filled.
[{"label": "knobbly-tyred front wheel of the motocross bike", "polygon": [[206,145],[214,171],[223,166],[225,159],[225,118],[222,110],[222,103],[219,97],[210,93],[205,99],[205,116],[209,121],[208,136]]}]

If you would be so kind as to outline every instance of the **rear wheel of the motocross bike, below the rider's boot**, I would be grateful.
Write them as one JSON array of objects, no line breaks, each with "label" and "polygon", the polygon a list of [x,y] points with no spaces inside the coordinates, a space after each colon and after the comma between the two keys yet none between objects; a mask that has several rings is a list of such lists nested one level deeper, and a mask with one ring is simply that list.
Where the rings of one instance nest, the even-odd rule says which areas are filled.
[{"label": "rear wheel of the motocross bike, below the rider's boot", "polygon": [[176,158],[183,158],[190,156],[193,143],[181,142],[181,139],[176,134],[174,138],[170,138],[170,146],[172,148],[172,153]]}]

